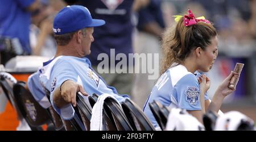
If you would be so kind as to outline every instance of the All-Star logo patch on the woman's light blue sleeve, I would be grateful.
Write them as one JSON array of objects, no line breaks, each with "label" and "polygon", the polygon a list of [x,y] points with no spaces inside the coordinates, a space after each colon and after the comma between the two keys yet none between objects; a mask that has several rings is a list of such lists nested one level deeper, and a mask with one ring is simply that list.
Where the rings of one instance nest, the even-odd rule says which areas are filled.
[{"label": "All-Star logo patch on the woman's light blue sleeve", "polygon": [[190,105],[196,105],[196,103],[199,101],[199,94],[200,90],[198,87],[187,87],[186,90],[187,95],[187,101],[190,103]]}]

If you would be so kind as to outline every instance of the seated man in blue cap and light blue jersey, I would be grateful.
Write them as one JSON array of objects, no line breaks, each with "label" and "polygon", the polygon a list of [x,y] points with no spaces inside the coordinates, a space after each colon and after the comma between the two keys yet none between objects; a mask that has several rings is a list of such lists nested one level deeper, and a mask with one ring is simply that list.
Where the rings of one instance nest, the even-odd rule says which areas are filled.
[{"label": "seated man in blue cap and light blue jersey", "polygon": [[94,41],[93,27],[103,24],[104,20],[92,19],[86,7],[77,5],[64,7],[53,20],[56,55],[44,62],[39,72],[43,86],[51,91],[53,108],[64,120],[73,117],[71,103],[76,106],[76,93],[79,91],[82,95],[107,93],[120,102],[125,100],[114,87],[106,85],[85,57],[90,54],[90,44]]}]

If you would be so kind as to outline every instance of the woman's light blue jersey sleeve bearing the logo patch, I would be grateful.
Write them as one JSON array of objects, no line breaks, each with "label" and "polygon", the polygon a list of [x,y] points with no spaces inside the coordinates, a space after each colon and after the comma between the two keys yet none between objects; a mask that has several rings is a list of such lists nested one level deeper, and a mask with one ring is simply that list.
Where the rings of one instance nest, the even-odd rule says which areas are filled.
[{"label": "woman's light blue jersey sleeve bearing the logo patch", "polygon": [[174,86],[177,105],[186,110],[201,110],[200,86],[193,74],[187,74]]}]

